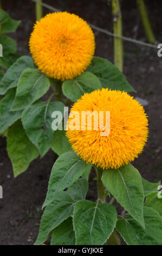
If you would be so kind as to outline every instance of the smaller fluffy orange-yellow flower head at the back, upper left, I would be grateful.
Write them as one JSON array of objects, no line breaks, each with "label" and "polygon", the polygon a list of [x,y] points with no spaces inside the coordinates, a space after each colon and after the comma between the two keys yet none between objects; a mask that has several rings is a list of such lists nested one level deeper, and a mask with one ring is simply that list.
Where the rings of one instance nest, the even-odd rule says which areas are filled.
[{"label": "smaller fluffy orange-yellow flower head at the back, upper left", "polygon": [[64,81],[86,70],[94,55],[95,39],[86,21],[65,11],[37,21],[29,47],[38,69]]}]

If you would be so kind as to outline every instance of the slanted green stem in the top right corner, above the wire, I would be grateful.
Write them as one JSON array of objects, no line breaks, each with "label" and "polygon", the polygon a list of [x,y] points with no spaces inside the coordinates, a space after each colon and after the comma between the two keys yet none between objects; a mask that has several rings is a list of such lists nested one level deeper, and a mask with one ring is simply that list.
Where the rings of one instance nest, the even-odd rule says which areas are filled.
[{"label": "slanted green stem in the top right corner, above the wire", "polygon": [[155,37],[150,25],[150,21],[148,19],[148,15],[147,15],[147,10],[146,10],[146,6],[144,3],[144,0],[136,0],[137,5],[138,5],[138,10],[141,16],[141,20],[142,20],[142,25],[144,27],[144,31],[147,37],[148,42],[150,42],[150,44],[153,44],[153,42],[155,42]]}]

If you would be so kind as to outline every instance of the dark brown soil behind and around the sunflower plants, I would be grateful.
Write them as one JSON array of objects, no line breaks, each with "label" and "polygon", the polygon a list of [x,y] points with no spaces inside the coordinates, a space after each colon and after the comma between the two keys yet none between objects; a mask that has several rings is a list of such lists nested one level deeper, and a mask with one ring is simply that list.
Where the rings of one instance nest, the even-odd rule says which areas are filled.
[{"label": "dark brown soil behind and around the sunflower plants", "polygon": [[[13,19],[22,20],[17,32],[12,38],[17,41],[18,52],[29,54],[28,40],[35,21],[34,3],[30,0],[5,0],[4,10]],[[106,0],[46,0],[57,9],[67,10],[80,15],[96,26],[112,31],[111,5]],[[146,41],[141,26],[135,1],[122,0],[122,17],[124,35]],[[155,36],[162,41],[161,12],[159,0],[145,1]],[[44,14],[50,11],[44,8]],[[135,29],[137,31],[135,32]],[[96,38],[95,55],[107,58],[113,62],[113,39],[108,35],[94,31]],[[124,74],[137,90],[134,96],[148,101],[145,107],[149,119],[150,135],[144,153],[134,161],[134,166],[141,175],[152,182],[162,176],[162,57],[157,57],[157,50],[124,41]],[[41,206],[46,196],[54,153],[49,153],[43,159],[36,159],[28,170],[17,178],[13,178],[12,166],[9,160],[5,138],[0,138],[0,185],[3,186],[3,199],[0,199],[0,245],[33,245],[38,234]],[[95,200],[96,184],[90,176],[90,188],[87,198]],[[121,213],[118,205],[118,211]]]}]

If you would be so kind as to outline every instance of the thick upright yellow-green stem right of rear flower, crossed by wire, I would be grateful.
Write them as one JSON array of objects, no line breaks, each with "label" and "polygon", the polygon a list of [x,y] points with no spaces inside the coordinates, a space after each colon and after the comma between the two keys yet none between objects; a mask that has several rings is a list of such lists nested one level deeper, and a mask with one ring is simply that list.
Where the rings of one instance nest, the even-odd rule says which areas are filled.
[{"label": "thick upright yellow-green stem right of rear flower, crossed by wire", "polygon": [[[114,34],[122,36],[122,20],[119,0],[112,0],[112,13]],[[114,37],[114,63],[122,72],[123,69],[123,45],[121,38]]]}]

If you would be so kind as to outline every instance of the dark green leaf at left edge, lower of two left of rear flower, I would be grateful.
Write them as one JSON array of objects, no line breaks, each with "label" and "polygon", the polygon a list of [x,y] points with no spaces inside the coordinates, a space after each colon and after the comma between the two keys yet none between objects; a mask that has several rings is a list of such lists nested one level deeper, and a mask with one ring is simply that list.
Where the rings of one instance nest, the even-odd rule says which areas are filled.
[{"label": "dark green leaf at left edge, lower of two left of rear flower", "polygon": [[16,42],[9,36],[0,36],[0,44],[3,47],[3,57],[0,57],[0,66],[8,69],[20,56],[16,51]]}]

